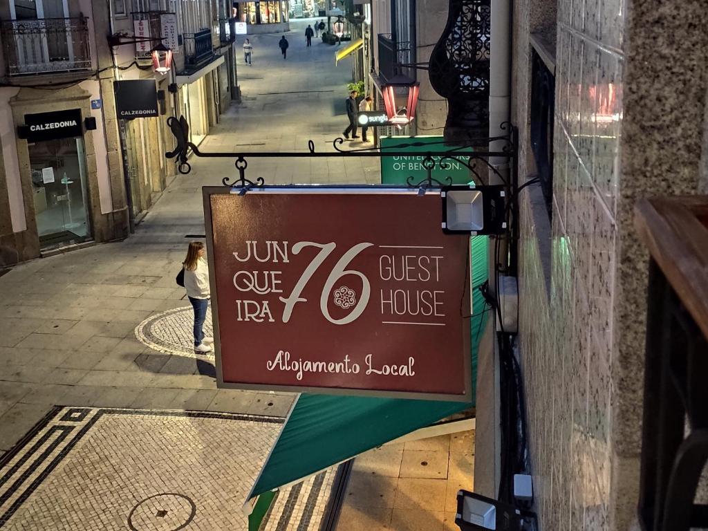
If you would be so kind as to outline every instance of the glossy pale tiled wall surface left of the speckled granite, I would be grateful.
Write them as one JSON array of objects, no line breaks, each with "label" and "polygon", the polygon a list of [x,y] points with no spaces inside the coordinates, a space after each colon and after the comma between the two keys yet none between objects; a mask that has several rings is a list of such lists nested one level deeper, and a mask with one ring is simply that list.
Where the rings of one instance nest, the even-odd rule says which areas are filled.
[{"label": "glossy pale tiled wall surface left of the speckled granite", "polygon": [[[538,222],[539,190],[532,187],[521,198],[520,355],[543,530],[610,529],[622,4],[558,1],[550,232]],[[524,48],[519,37],[515,34],[517,46]],[[530,76],[523,62],[529,50],[526,45],[516,51],[516,83]],[[523,85],[515,90],[525,93]],[[526,146],[523,181],[534,169],[532,162],[525,164],[527,120],[524,105],[517,107],[520,142]],[[550,271],[541,256],[549,239]],[[544,282],[549,273],[550,292]]]}]

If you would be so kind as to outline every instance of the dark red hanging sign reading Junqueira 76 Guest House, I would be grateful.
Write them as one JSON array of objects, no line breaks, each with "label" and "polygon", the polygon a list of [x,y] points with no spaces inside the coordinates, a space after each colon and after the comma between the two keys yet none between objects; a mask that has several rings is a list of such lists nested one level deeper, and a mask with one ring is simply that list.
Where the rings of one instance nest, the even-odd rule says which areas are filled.
[{"label": "dark red hanging sign reading Junqueira 76 Guest House", "polygon": [[219,387],[469,400],[469,235],[440,193],[204,188]]}]

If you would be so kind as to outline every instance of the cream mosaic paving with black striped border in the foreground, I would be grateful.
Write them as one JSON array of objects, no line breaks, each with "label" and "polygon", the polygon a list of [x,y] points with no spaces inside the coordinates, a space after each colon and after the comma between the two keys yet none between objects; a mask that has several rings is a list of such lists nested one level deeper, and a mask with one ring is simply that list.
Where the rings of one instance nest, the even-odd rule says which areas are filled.
[{"label": "cream mosaic paving with black striped border in the foreground", "polygon": [[[0,459],[0,527],[246,531],[241,508],[283,419],[55,408]],[[263,531],[319,530],[337,469],[278,492]]]}]

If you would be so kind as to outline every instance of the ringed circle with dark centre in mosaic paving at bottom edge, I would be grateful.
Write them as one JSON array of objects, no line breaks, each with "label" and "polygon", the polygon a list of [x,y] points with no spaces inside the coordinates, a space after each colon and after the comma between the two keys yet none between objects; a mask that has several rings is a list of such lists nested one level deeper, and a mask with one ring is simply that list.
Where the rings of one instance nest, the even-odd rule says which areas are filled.
[{"label": "ringed circle with dark centre in mosaic paving at bottom edge", "polygon": [[197,506],[184,494],[155,494],[133,507],[128,515],[132,531],[178,531],[197,514]]}]

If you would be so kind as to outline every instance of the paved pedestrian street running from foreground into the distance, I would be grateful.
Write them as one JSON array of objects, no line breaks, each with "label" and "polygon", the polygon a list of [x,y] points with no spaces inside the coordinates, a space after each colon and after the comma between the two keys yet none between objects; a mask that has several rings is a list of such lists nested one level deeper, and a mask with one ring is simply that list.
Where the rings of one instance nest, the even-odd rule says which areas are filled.
[{"label": "paved pedestrian street running from foreground into the distance", "polygon": [[[286,60],[280,35],[251,37],[253,66],[238,56],[243,103],[222,115],[200,149],[307,151],[313,139],[318,151],[332,150],[331,141],[346,126],[350,64],[335,67],[334,47],[321,40],[306,47],[306,25],[292,23]],[[294,395],[217,391],[213,355],[193,353],[192,309],[175,275],[190,235],[204,234],[201,187],[220,185],[236,171],[232,159],[193,157],[190,164],[192,172],[174,179],[125,241],[16,265],[0,278],[0,458],[9,470],[0,483],[0,527],[124,529],[130,515],[132,529],[172,529],[190,518],[190,529],[246,528],[240,505]],[[269,184],[374,183],[378,159],[251,159],[247,176]],[[28,444],[5,455],[42,418]],[[84,435],[89,428],[91,437]],[[64,459],[38,486],[76,444],[86,451]],[[235,457],[224,461],[219,454]],[[119,475],[135,484],[104,489],[91,482],[121,474],[140,456],[149,459]],[[171,467],[176,462],[181,465]],[[164,475],[154,478],[153,469]],[[325,486],[333,472],[325,474]],[[224,477],[227,484],[219,479]],[[307,481],[305,487],[298,489],[303,503],[297,514],[283,511],[285,491],[268,529],[286,517],[291,525],[297,518],[309,522],[304,501],[311,498],[324,506],[327,489],[318,498],[310,496]],[[185,495],[149,498],[176,489]],[[196,517],[190,503],[200,507]],[[218,510],[205,510],[205,504]],[[163,510],[166,515],[155,516]],[[312,525],[319,524],[315,520]]]}]

